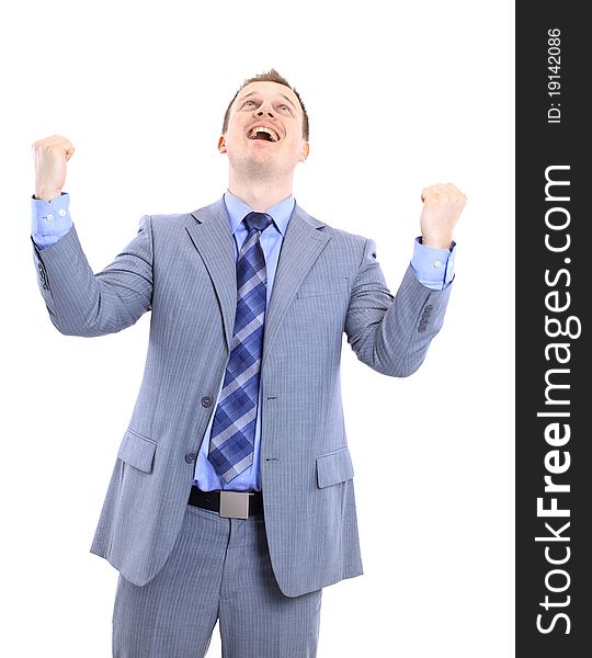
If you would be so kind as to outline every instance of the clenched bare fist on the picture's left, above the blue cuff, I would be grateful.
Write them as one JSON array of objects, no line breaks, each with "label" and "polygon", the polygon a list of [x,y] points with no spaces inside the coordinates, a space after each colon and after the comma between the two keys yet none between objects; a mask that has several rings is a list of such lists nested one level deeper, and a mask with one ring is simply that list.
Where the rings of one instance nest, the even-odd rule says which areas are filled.
[{"label": "clenched bare fist on the picture's left, above the blue cuff", "polygon": [[61,194],[66,182],[66,162],[73,155],[73,146],[66,137],[52,135],[33,145],[35,161],[35,198],[50,201]]}]

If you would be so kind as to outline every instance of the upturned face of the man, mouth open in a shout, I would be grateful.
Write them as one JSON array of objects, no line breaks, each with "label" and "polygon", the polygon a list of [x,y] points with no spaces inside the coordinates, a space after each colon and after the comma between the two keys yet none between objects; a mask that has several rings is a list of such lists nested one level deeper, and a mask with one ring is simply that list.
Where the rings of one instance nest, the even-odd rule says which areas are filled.
[{"label": "upturned face of the man, mouth open in a shout", "polygon": [[278,82],[247,84],[232,103],[218,150],[228,154],[230,168],[237,173],[291,174],[308,156],[296,94]]}]

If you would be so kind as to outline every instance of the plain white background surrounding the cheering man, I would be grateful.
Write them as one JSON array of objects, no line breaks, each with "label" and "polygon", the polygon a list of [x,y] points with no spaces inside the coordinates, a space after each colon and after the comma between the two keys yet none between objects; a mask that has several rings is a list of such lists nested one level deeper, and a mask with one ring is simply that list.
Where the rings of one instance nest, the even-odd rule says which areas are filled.
[{"label": "plain white background surrounding the cheering man", "polygon": [[[89,547],[149,325],[92,340],[54,329],[29,238],[31,144],[73,143],[65,190],[99,271],[143,214],[221,196],[224,111],[244,78],[275,67],[310,115],[297,201],[373,238],[394,292],[422,188],[453,182],[468,196],[448,313],[422,368],[385,377],[344,342],[365,575],[325,589],[319,657],[513,655],[513,3],[54,0],[8,11],[0,653],[111,655],[116,571]],[[216,629],[207,656],[219,655]]]}]

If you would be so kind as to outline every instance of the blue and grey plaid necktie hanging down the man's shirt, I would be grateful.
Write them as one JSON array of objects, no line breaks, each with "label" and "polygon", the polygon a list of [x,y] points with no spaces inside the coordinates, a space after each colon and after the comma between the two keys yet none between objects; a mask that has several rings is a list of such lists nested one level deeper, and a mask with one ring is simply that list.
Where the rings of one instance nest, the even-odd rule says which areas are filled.
[{"label": "blue and grey plaid necktie hanging down the man's shirt", "polygon": [[253,462],[259,375],[267,294],[265,258],[259,238],[272,218],[249,213],[249,235],[237,262],[237,315],[218,406],[214,415],[208,461],[228,483]]}]

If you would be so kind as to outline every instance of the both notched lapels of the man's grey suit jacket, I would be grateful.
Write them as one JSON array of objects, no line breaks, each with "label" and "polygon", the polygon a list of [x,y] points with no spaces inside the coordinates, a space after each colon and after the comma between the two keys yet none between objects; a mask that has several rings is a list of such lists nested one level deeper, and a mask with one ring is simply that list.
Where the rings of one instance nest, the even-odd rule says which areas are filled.
[{"label": "both notched lapels of the man's grey suit jacket", "polygon": [[[224,198],[191,214],[185,227],[204,261],[216,290],[228,350],[237,311],[237,269],[235,246]],[[330,240],[326,226],[295,204],[280,252],[270,306],[265,317],[262,365],[300,283]]]}]

